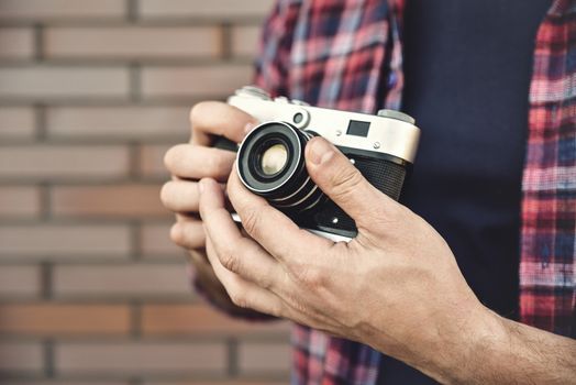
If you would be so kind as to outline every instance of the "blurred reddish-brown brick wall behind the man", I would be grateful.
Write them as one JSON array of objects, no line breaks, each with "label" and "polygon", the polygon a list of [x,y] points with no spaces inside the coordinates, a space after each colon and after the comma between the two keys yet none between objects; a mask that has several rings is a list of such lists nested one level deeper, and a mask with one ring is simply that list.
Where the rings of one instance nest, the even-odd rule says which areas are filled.
[{"label": "blurred reddish-brown brick wall behind the man", "polygon": [[0,383],[283,384],[286,323],[191,294],[159,204],[272,0],[0,0]]}]

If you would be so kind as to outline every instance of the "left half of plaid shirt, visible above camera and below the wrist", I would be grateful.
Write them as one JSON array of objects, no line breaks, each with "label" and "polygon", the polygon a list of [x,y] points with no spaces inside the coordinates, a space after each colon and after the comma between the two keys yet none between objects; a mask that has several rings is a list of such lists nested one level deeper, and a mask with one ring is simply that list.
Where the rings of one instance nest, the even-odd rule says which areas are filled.
[{"label": "left half of plaid shirt, visible above camera and below the wrist", "polygon": [[[278,1],[264,28],[256,85],[319,107],[399,109],[402,8],[403,1]],[[381,354],[367,345],[302,326],[292,345],[295,384],[377,380]]]}]

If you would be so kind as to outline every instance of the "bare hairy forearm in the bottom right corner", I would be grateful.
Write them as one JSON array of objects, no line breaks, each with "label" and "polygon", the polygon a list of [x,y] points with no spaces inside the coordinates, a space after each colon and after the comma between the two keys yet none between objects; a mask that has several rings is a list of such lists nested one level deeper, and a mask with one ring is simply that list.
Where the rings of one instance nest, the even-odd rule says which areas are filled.
[{"label": "bare hairy forearm in the bottom right corner", "polygon": [[479,318],[446,338],[444,352],[420,358],[416,366],[452,384],[576,384],[575,340],[488,309]]}]

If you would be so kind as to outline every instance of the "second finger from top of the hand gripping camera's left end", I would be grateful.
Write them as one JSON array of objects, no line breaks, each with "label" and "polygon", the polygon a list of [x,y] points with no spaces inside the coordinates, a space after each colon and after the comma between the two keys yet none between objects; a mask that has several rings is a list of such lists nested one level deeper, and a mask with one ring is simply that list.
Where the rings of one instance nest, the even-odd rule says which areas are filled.
[{"label": "second finger from top of the hand gripping camera's left end", "polygon": [[178,144],[166,153],[164,164],[168,170],[180,178],[201,179],[203,177],[225,182],[236,154],[230,151],[202,147],[192,144]]}]

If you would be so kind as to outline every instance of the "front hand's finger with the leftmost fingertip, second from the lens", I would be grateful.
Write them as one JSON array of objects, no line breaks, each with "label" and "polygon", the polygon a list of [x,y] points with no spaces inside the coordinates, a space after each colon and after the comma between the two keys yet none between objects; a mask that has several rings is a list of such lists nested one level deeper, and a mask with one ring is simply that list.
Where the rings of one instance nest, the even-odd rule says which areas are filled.
[{"label": "front hand's finger with the leftmost fingertip, second from the lens", "polygon": [[278,262],[256,242],[242,237],[224,208],[224,195],[215,182],[202,179],[200,185],[200,216],[220,263],[263,288],[278,287],[284,276]]}]

